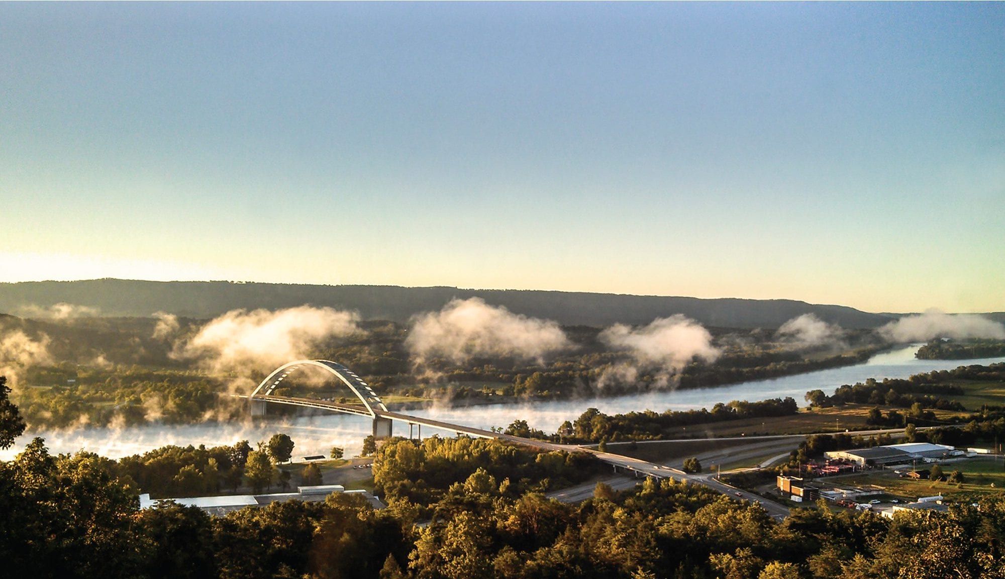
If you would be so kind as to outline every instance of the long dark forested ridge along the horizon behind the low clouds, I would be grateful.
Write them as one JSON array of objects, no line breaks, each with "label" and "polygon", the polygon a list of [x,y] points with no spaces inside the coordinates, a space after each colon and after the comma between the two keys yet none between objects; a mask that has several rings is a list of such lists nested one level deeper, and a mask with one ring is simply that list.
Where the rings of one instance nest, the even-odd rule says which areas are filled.
[{"label": "long dark forested ridge along the horizon behind the low clouds", "polygon": [[477,297],[512,312],[564,325],[647,324],[674,314],[706,326],[777,328],[802,314],[844,328],[875,328],[890,317],[843,306],[817,306],[792,300],[739,300],[622,296],[516,290],[458,290],[396,285],[303,285],[229,281],[24,281],[0,283],[0,312],[24,314],[32,306],[66,303],[97,309],[103,316],[150,316],[168,312],[211,318],[234,309],[278,309],[311,304],[355,310],[366,319],[407,321],[436,311],[453,298]]}]

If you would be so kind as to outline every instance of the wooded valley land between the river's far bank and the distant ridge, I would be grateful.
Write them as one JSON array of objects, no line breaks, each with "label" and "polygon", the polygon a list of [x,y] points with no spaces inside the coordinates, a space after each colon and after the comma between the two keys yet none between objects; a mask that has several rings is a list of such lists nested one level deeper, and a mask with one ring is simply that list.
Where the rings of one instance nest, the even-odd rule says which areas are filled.
[{"label": "wooded valley land between the river's far bank and the distant ridge", "polygon": [[[179,319],[181,335],[204,323]],[[12,394],[32,428],[78,425],[134,425],[228,420],[243,407],[226,396],[236,376],[211,373],[198,360],[177,356],[174,343],[155,338],[157,321],[139,318],[77,318],[39,321],[0,316],[0,331],[19,332],[46,344],[47,356],[22,371]],[[642,369],[631,380],[606,380],[623,364],[624,352],[610,351],[599,328],[566,327],[576,345],[547,360],[495,356],[454,361],[431,358],[417,367],[405,344],[407,326],[363,322],[365,334],[322,342],[305,357],[339,361],[364,377],[392,404],[417,405],[432,399],[453,404],[507,400],[549,400],[580,395],[644,392],[666,385],[715,386],[851,365],[882,345],[871,332],[852,333],[846,349],[798,349],[772,332],[710,329],[722,355],[712,363],[691,361],[674,375]],[[250,372],[247,383],[264,378]],[[667,382],[668,379],[668,382]],[[597,390],[600,381],[602,391]],[[329,389],[331,390],[331,389]],[[279,389],[277,394],[331,395],[318,389]],[[346,402],[353,403],[349,397]]]}]

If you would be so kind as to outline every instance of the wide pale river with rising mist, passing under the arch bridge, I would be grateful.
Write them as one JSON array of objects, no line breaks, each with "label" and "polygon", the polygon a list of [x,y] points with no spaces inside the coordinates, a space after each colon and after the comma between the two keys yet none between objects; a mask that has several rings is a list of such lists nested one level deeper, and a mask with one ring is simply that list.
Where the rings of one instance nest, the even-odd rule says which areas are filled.
[{"label": "wide pale river with rising mist, passing under the arch bridge", "polygon": [[[915,352],[920,345],[873,356],[855,366],[820,370],[807,374],[743,382],[716,388],[695,388],[657,393],[581,398],[526,404],[491,404],[466,408],[431,407],[407,411],[409,414],[465,424],[480,428],[506,426],[517,419],[527,420],[534,428],[554,432],[564,420],[574,420],[590,407],[607,414],[632,410],[712,408],[717,402],[731,400],[764,400],[791,396],[801,405],[807,391],[819,388],[827,394],[842,384],[864,382],[866,378],[907,378],[912,374],[932,370],[949,370],[961,365],[1005,362],[1005,358],[978,360],[918,360]],[[23,449],[32,436],[42,436],[51,452],[74,452],[85,449],[112,458],[141,453],[165,444],[233,444],[247,439],[254,445],[267,440],[276,432],[285,432],[296,444],[295,457],[328,454],[333,446],[342,446],[347,455],[359,453],[363,437],[370,433],[368,418],[346,414],[303,416],[246,423],[206,423],[185,426],[146,425],[130,428],[87,428],[28,432],[17,439],[14,447],[0,451],[0,459],[9,460]],[[424,428],[422,436],[437,433]],[[408,435],[408,425],[395,423],[395,434]],[[441,435],[452,433],[439,432]]]}]

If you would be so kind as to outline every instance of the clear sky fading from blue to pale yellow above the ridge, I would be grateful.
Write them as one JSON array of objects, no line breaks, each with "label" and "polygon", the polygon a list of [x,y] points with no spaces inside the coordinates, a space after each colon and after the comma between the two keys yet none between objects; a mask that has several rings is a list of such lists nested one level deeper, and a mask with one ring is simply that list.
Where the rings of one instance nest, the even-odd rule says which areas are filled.
[{"label": "clear sky fading from blue to pale yellow above the ridge", "polygon": [[0,3],[0,281],[1005,311],[1003,3]]}]

